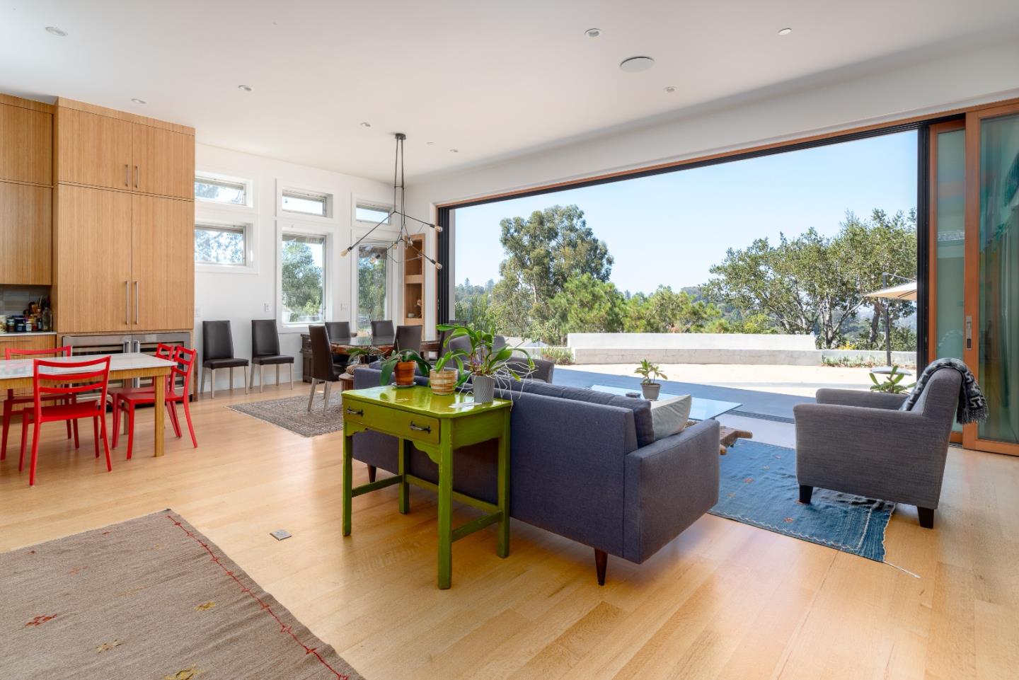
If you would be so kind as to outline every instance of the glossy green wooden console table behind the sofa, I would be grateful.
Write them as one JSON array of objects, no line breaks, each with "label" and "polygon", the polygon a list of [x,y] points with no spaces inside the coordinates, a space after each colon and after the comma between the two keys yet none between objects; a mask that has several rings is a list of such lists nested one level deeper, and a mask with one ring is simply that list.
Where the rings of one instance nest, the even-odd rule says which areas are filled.
[{"label": "glossy green wooden console table behind the sofa", "polygon": [[[356,495],[399,484],[397,507],[410,512],[410,485],[438,493],[438,585],[448,588],[452,579],[452,543],[479,529],[498,523],[496,554],[509,555],[509,407],[497,399],[492,404],[474,404],[464,394],[433,395],[422,385],[413,387],[369,387],[343,393],[343,535],[351,535],[351,505]],[[364,430],[391,434],[398,438],[398,472],[352,488],[354,435]],[[498,439],[498,503],[452,490],[453,451],[472,443]],[[408,472],[410,446],[428,454],[438,466],[438,484]],[[457,528],[452,527],[452,501],[486,513]]]}]

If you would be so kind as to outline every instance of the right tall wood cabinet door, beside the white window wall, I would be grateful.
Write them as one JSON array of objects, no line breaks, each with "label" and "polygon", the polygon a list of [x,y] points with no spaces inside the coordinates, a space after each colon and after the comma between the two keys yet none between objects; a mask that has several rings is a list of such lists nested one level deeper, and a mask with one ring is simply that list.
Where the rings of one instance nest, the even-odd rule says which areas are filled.
[{"label": "right tall wood cabinet door, beside the white window wall", "polygon": [[132,197],[135,330],[178,330],[195,321],[195,204]]}]

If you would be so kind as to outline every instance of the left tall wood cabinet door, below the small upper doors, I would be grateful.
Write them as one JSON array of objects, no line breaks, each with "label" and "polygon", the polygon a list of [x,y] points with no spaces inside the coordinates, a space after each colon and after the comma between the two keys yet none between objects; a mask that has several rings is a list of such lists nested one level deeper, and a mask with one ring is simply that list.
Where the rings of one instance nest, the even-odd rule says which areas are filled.
[{"label": "left tall wood cabinet door, below the small upper doors", "polygon": [[127,330],[130,194],[63,186],[56,218],[57,327],[61,332]]}]

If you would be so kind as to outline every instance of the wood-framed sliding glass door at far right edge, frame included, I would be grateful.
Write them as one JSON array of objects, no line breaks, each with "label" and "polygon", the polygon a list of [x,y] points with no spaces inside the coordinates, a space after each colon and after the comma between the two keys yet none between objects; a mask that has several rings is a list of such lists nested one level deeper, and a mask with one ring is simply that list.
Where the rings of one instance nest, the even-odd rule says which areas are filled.
[{"label": "wood-framed sliding glass door at far right edge, frame included", "polygon": [[963,441],[1019,455],[1019,105],[967,114],[966,180],[964,353],[989,417]]}]

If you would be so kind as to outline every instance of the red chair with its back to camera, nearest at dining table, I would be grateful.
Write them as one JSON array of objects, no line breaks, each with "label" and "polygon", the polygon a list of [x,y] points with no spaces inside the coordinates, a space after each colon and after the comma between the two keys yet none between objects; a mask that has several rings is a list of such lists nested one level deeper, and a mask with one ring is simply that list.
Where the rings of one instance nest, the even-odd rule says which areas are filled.
[{"label": "red chair with its back to camera, nearest at dining table", "polygon": [[[43,369],[61,369],[60,372]],[[67,369],[82,369],[69,372]],[[90,370],[92,369],[92,370]],[[92,418],[92,431],[96,437],[96,458],[99,458],[99,439],[103,440],[106,451],[106,470],[113,470],[110,462],[110,446],[106,439],[106,389],[110,381],[110,358],[102,357],[84,361],[47,361],[36,359],[33,362],[32,387],[34,391],[32,411],[23,411],[21,415],[21,457],[17,464],[18,472],[24,467],[24,444],[29,432],[29,423],[34,425],[32,433],[32,464],[29,468],[29,486],[36,484],[36,461],[39,458],[39,429],[43,423],[55,420],[73,420]],[[55,384],[54,384],[55,383]],[[55,406],[43,406],[43,402],[59,397],[84,395],[96,389],[101,390],[99,401],[82,401],[76,399]]]}]

